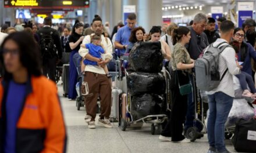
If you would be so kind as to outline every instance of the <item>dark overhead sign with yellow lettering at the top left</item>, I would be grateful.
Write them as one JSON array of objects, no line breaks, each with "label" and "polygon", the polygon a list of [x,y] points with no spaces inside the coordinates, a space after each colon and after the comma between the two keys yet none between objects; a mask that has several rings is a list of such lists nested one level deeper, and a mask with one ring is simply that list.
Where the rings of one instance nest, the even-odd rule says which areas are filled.
[{"label": "dark overhead sign with yellow lettering at the top left", "polygon": [[69,7],[69,8],[88,8],[90,0],[4,0],[5,8],[9,7],[29,7],[29,8],[44,8],[44,7]]}]

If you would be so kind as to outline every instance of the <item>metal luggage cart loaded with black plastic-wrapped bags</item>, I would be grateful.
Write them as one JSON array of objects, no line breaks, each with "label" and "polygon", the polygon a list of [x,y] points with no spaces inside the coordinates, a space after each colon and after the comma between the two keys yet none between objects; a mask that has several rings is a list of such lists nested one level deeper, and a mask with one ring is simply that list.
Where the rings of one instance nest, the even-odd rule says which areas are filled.
[{"label": "metal luggage cart loaded with black plastic-wrapped bags", "polygon": [[[121,61],[117,60],[117,64],[119,65],[119,70],[121,70]],[[120,95],[119,99],[119,126],[122,131],[125,131],[127,127],[132,127],[133,125],[138,125],[139,128],[143,126],[143,123],[151,124],[151,134],[155,134],[155,130],[157,127],[158,132],[160,133],[162,130],[161,124],[167,120],[167,115],[165,114],[158,114],[158,115],[148,115],[144,118],[140,118],[134,121],[133,115],[130,113],[130,106],[131,106],[131,96],[129,92],[127,91],[127,76],[129,75],[129,72],[126,71],[125,68],[123,68],[123,71],[125,76],[122,76],[122,72],[119,71],[119,77],[116,78],[117,85],[122,85],[119,88],[123,90],[122,95]],[[169,109],[170,105],[170,74],[165,68],[162,70],[163,76],[166,80],[166,102],[167,102],[167,109]],[[166,110],[169,111],[169,110]]]}]

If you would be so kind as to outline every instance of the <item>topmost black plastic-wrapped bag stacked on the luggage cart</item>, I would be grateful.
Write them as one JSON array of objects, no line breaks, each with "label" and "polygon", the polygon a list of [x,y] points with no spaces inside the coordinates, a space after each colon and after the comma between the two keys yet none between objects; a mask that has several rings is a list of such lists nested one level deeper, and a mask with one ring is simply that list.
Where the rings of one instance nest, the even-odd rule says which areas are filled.
[{"label": "topmost black plastic-wrapped bag stacked on the luggage cart", "polygon": [[129,54],[131,69],[137,72],[159,72],[163,67],[161,42],[140,42]]}]

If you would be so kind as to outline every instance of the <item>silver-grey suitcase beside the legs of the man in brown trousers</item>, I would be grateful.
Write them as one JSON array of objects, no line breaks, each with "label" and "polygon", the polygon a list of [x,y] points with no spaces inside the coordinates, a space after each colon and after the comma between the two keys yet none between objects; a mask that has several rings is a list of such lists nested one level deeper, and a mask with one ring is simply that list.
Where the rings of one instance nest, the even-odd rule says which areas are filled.
[{"label": "silver-grey suitcase beside the legs of the man in brown trousers", "polygon": [[112,89],[112,99],[111,99],[111,114],[110,118],[112,121],[118,120],[118,103],[119,103],[119,94],[122,93],[121,89],[113,88]]}]

